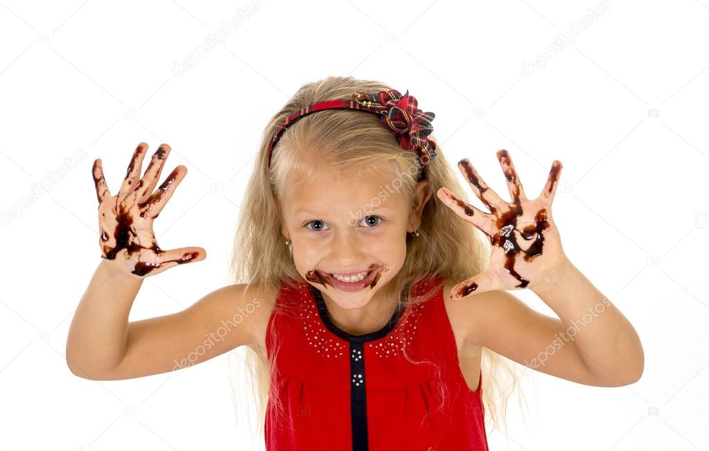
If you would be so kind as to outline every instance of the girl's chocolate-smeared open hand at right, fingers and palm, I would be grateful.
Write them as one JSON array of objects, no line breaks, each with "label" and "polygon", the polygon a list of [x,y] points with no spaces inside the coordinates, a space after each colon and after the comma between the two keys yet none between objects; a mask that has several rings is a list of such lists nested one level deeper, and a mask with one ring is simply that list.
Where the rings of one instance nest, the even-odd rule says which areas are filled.
[{"label": "girl's chocolate-smeared open hand at right, fingers and palm", "polygon": [[482,230],[493,246],[490,266],[454,286],[451,291],[453,299],[473,292],[531,289],[542,282],[549,282],[554,272],[569,262],[552,220],[552,201],[562,172],[562,162],[554,161],[542,193],[537,199],[529,200],[507,150],[499,150],[497,158],[507,178],[511,203],[490,189],[467,158],[458,162],[458,168],[490,213],[458,199],[445,187],[437,192],[438,198],[458,216]]}]

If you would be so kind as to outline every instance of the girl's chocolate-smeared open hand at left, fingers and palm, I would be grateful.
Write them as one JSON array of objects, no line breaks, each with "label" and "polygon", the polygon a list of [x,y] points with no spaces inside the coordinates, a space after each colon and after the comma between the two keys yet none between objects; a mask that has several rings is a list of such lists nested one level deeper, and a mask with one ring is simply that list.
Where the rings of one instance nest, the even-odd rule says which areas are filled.
[{"label": "girl's chocolate-smeared open hand at left, fingers and palm", "polygon": [[140,169],[146,152],[147,144],[138,144],[116,196],[111,196],[108,191],[100,158],[94,161],[93,168],[96,196],[99,199],[101,258],[113,260],[123,272],[137,277],[152,276],[175,265],[199,262],[206,258],[206,251],[202,247],[161,250],[157,246],[152,222],[184,179],[187,168],[179,165],[173,169],[157,191],[152,193],[169,155],[170,146],[161,144],[157,148],[141,179]]}]

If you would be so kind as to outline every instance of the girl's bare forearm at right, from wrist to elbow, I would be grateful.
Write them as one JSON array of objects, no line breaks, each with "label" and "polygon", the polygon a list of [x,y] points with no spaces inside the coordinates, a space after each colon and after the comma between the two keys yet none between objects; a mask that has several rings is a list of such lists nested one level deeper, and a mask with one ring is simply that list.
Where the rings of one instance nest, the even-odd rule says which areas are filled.
[{"label": "girl's bare forearm at right, from wrist to elbow", "polygon": [[599,382],[625,385],[640,378],[644,354],[635,328],[569,260],[530,289],[557,313]]}]

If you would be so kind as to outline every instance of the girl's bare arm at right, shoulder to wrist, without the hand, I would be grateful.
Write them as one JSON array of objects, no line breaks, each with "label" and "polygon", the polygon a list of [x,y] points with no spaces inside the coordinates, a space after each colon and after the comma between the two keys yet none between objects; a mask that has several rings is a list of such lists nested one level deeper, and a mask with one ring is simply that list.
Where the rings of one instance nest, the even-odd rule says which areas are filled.
[{"label": "girl's bare arm at right, shoulder to wrist, without the hand", "polygon": [[509,291],[484,291],[467,302],[453,301],[453,308],[467,318],[469,343],[579,384],[637,382],[644,357],[632,325],[571,262],[554,274],[530,289],[559,318],[533,310]]}]

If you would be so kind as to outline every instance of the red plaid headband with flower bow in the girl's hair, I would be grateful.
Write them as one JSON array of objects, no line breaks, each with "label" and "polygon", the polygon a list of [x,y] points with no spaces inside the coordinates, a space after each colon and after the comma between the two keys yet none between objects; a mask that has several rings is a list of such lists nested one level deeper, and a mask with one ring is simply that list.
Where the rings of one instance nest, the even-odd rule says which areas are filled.
[{"label": "red plaid headband with flower bow in the girl's hair", "polygon": [[356,92],[352,100],[323,101],[291,114],[278,126],[268,147],[268,165],[271,166],[271,155],[283,132],[292,123],[303,116],[316,113],[316,111],[334,109],[354,109],[368,111],[379,116],[379,122],[396,136],[396,141],[404,150],[413,150],[424,167],[436,157],[436,143],[428,135],[433,131],[431,121],[435,118],[433,113],[424,113],[417,108],[418,101],[415,97],[406,94],[401,96],[396,89],[381,91],[378,94]]}]

